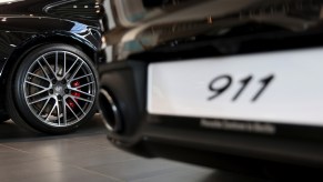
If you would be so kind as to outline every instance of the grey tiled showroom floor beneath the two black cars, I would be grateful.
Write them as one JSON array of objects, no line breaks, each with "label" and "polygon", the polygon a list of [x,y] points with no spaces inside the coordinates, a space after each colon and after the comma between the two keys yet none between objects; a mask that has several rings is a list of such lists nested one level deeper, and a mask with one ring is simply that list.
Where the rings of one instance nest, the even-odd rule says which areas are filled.
[{"label": "grey tiled showroom floor beneath the two black cars", "polygon": [[216,170],[147,160],[112,146],[99,117],[73,134],[46,136],[0,124],[0,182],[253,182]]}]

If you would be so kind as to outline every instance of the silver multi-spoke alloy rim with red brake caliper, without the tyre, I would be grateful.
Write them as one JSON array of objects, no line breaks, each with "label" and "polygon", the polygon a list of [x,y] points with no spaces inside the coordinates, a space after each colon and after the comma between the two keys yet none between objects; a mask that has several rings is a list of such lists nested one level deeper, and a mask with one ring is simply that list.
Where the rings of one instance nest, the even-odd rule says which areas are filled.
[{"label": "silver multi-spoke alloy rim with red brake caliper, without the tyre", "polygon": [[23,79],[28,108],[51,127],[81,121],[94,104],[95,88],[94,73],[87,61],[69,51],[40,55]]}]

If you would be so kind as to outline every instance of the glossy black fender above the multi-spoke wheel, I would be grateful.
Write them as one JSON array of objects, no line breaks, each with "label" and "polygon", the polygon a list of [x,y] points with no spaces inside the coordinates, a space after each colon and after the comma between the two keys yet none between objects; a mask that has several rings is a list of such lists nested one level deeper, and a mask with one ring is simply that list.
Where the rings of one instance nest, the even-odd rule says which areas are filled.
[{"label": "glossy black fender above the multi-spoke wheel", "polygon": [[[62,42],[78,46],[95,60],[95,51],[101,47],[100,13],[101,8],[99,1],[95,0],[1,2],[1,87],[6,85],[6,77],[12,64],[29,49],[40,44]],[[3,108],[1,100],[0,108]]]}]

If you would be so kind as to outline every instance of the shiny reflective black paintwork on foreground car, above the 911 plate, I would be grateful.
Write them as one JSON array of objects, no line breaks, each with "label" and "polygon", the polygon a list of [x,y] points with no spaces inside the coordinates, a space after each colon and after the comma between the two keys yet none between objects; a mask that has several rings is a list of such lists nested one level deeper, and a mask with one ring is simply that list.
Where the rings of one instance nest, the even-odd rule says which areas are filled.
[{"label": "shiny reflective black paintwork on foreground car, above the 911 plate", "polygon": [[[113,0],[111,3],[112,10],[120,7]],[[189,49],[193,50],[195,47],[206,47],[209,50],[201,48],[201,53],[200,50],[195,51],[195,55],[190,52],[189,57],[243,53],[248,49],[249,52],[254,52],[259,43],[264,41],[270,44],[263,43],[259,51],[268,51],[277,49],[281,46],[277,42],[284,43],[284,39],[290,39],[291,42],[294,38],[304,38],[302,41],[306,41],[310,37],[321,34],[322,4],[322,0],[147,0],[143,2],[144,13],[135,11],[133,17],[123,14],[125,18],[117,18],[117,26],[109,27],[113,31],[107,33],[105,38],[113,48],[110,53],[117,60],[125,60],[141,52],[162,52],[165,49],[170,53],[176,53],[175,57],[180,53],[185,55],[190,52]],[[122,31],[117,31],[120,29]],[[134,33],[135,30],[140,31]],[[285,49],[294,44],[287,44],[289,42],[285,42]],[[249,46],[250,43],[254,44]],[[268,48],[263,48],[266,44]],[[303,47],[307,44],[311,42],[305,42]],[[159,55],[163,58],[162,53]],[[159,55],[157,59],[160,59]]]}]

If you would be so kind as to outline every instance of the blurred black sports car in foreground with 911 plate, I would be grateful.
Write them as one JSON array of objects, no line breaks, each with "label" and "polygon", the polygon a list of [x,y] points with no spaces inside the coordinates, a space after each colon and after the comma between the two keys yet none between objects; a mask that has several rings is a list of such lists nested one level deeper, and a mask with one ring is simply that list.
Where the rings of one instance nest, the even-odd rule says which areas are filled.
[{"label": "blurred black sports car in foreground with 911 plate", "polygon": [[322,0],[104,6],[110,141],[230,170],[322,168]]}]

